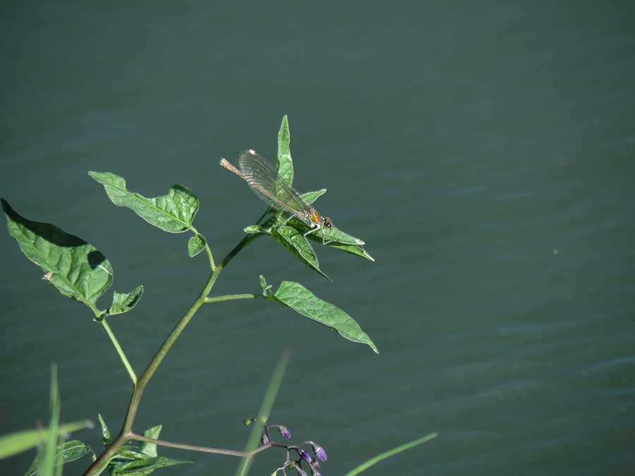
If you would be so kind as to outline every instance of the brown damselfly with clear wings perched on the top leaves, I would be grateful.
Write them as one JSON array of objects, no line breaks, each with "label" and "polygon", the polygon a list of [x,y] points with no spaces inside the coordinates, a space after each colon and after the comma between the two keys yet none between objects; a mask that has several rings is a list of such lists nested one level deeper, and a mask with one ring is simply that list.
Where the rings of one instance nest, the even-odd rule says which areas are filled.
[{"label": "brown damselfly with clear wings perched on the top leaves", "polygon": [[284,224],[296,216],[310,226],[310,230],[303,236],[322,230],[322,244],[330,243],[330,240],[326,240],[325,228],[329,230],[333,226],[331,219],[328,216],[321,216],[314,207],[305,202],[294,188],[287,185],[284,178],[265,157],[255,150],[245,149],[238,152],[238,168],[226,159],[221,159],[220,164],[246,181],[253,193],[267,205],[289,213],[289,218],[284,221]]}]

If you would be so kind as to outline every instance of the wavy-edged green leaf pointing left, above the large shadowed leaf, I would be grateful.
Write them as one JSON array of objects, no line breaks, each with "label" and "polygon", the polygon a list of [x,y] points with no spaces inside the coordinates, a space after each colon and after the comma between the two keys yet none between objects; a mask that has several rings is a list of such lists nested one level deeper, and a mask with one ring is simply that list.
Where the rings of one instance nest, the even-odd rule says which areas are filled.
[{"label": "wavy-edged green leaf pointing left, above the large shadowed leaf", "polygon": [[184,185],[172,185],[167,195],[146,198],[129,192],[123,177],[110,172],[88,172],[104,185],[106,193],[117,207],[128,207],[149,224],[169,233],[182,233],[192,226],[198,212],[198,198]]}]

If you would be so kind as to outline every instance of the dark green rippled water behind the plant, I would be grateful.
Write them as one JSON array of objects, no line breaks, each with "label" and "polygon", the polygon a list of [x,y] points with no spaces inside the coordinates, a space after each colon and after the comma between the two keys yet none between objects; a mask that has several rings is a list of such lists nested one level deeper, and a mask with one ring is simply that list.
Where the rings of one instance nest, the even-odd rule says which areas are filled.
[{"label": "dark green rippled water behind the plant", "polygon": [[[0,195],[97,246],[117,291],[145,285],[135,312],[110,319],[138,372],[206,262],[188,259],[186,236],[111,206],[88,170],[148,196],[188,185],[221,257],[263,207],[218,158],[272,156],[289,114],[296,187],[328,188],[320,210],[377,260],[320,247],[329,283],[257,241],[215,293],[257,292],[258,274],[299,281],[381,355],[272,304],[204,307],[138,430],[243,448],[241,420],[292,348],[272,421],[325,446],[325,475],[433,431],[364,474],[633,474],[635,12],[550,3],[4,6]],[[101,412],[116,429],[130,388],[107,336],[4,225],[0,246],[1,433],[47,419],[52,361],[63,419]],[[99,448],[97,431],[77,436]],[[163,454],[196,461],[164,475],[238,463]],[[258,456],[253,474],[282,458]]]}]

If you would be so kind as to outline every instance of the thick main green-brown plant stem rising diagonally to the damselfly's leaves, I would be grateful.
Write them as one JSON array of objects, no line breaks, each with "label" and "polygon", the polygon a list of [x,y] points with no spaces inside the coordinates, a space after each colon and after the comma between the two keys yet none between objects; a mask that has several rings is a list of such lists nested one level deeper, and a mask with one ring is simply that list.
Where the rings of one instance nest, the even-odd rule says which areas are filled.
[{"label": "thick main green-brown plant stem rising diagonally to the damselfly's leaves", "polygon": [[139,377],[138,383],[135,386],[135,390],[133,391],[133,395],[130,400],[130,404],[128,405],[128,413],[126,413],[126,420],[123,422],[123,427],[121,428],[121,432],[119,432],[119,436],[112,442],[112,444],[102,453],[97,460],[95,460],[92,465],[86,470],[84,476],[95,476],[101,474],[108,466],[109,461],[115,456],[119,448],[128,440],[132,438],[133,431],[133,422],[135,421],[135,417],[137,416],[137,411],[139,409],[139,403],[141,401],[141,397],[143,396],[143,391],[145,391],[145,386],[147,386],[148,382],[152,378],[152,375],[155,374],[157,368],[169,352],[169,350],[176,342],[176,339],[179,338],[183,329],[187,327],[192,317],[195,315],[196,311],[205,303],[207,299],[207,295],[212,291],[212,287],[214,283],[218,279],[219,274],[221,274],[224,267],[238,254],[240,250],[246,247],[251,241],[258,238],[258,236],[248,235],[245,236],[239,243],[227,253],[226,257],[222,260],[217,267],[214,267],[212,274],[210,274],[210,278],[207,279],[207,283],[203,286],[202,291],[199,293],[198,297],[194,300],[190,308],[186,311],[185,315],[181,317],[181,320],[176,324],[176,327],[172,329],[171,333],[165,341],[162,343],[162,346],[157,350],[155,356],[150,360],[150,363],[147,365],[146,369]]}]

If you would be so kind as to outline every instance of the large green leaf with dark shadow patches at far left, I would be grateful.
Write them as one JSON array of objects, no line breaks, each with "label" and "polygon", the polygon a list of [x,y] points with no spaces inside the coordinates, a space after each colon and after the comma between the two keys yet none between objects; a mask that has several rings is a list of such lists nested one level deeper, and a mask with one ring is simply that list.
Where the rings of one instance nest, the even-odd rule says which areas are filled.
[{"label": "large green leaf with dark shadow patches at far left", "polygon": [[47,273],[44,279],[98,315],[95,303],[112,283],[112,267],[104,255],[56,226],[23,218],[4,199],[2,208],[9,233],[26,257]]}]

